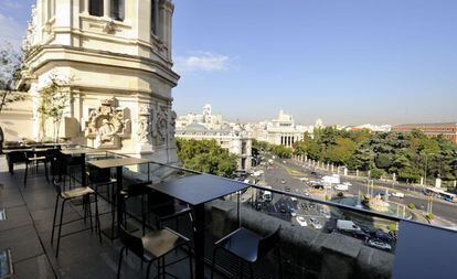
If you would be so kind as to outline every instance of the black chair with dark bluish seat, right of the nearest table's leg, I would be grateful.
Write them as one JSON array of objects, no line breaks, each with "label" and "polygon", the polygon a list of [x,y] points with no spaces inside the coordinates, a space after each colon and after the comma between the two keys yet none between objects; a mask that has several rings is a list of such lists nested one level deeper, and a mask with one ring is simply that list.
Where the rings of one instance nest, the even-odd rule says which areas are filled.
[{"label": "black chair with dark bluish seat, right of the nearest table's leg", "polygon": [[238,271],[241,275],[243,275],[244,272],[244,262],[246,262],[249,267],[251,279],[253,279],[253,264],[263,259],[268,254],[268,251],[270,251],[275,247],[278,257],[279,278],[283,278],[283,265],[280,258],[280,249],[278,246],[279,230],[280,226],[270,235],[262,237],[247,228],[241,227],[235,232],[228,234],[227,236],[223,237],[222,239],[217,240],[214,244],[215,247],[213,250],[211,279],[214,277],[215,257],[216,251],[219,249],[224,249],[241,260],[241,270]]}]

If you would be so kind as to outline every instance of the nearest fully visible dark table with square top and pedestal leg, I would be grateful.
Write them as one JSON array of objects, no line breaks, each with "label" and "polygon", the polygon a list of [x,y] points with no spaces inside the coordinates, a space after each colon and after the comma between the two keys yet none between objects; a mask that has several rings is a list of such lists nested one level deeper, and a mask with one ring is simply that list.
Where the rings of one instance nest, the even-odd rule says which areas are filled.
[{"label": "nearest fully visible dark table with square top and pedestal leg", "polygon": [[150,187],[192,206],[195,218],[193,238],[195,249],[195,278],[204,278],[204,204],[245,190],[248,185],[214,175],[198,174],[152,184]]}]

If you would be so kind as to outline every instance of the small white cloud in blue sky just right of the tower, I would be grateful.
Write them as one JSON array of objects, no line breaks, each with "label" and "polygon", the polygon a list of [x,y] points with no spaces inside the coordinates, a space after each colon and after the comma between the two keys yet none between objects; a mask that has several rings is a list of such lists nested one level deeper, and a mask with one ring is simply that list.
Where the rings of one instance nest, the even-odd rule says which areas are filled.
[{"label": "small white cloud in blue sky just right of the tower", "polygon": [[198,52],[189,56],[174,58],[174,69],[178,73],[219,72],[230,68],[231,60],[226,55],[211,52]]}]

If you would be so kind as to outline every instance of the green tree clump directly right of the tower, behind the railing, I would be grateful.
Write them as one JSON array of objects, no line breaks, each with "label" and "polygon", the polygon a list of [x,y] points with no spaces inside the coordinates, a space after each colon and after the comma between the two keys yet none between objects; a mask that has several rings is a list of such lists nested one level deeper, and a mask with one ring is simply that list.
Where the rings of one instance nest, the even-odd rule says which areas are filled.
[{"label": "green tree clump directly right of the tower, behind the railing", "polygon": [[231,178],[237,157],[221,148],[215,140],[177,139],[178,158],[187,169]]}]

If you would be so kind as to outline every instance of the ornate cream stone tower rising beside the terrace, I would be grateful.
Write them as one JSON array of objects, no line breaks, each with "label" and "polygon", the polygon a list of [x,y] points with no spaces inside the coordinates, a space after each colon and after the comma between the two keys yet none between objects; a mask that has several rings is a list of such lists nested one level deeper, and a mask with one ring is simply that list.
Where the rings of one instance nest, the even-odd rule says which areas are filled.
[{"label": "ornate cream stone tower rising beside the terrace", "polygon": [[172,14],[171,0],[36,0],[20,82],[32,96],[34,138],[50,133],[38,106],[57,76],[71,95],[60,138],[176,162]]}]

